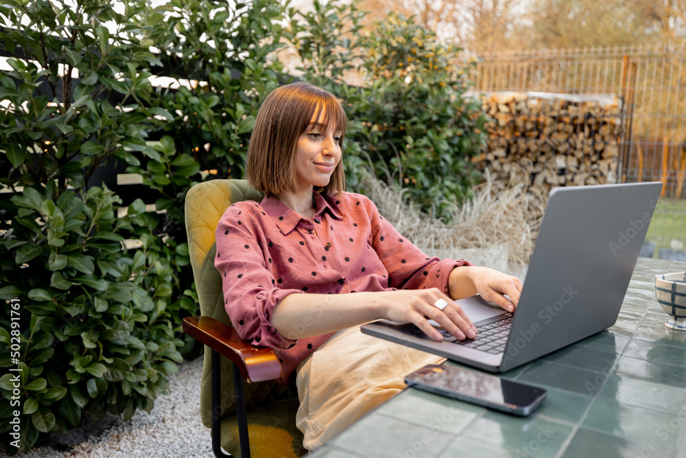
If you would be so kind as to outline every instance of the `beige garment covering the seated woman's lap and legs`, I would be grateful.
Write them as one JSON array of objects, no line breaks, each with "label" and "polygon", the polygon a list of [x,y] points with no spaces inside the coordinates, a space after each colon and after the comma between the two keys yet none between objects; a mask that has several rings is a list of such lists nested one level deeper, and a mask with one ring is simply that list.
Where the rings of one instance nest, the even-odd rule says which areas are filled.
[{"label": "beige garment covering the seated woman's lap and legs", "polygon": [[445,358],[362,334],[359,326],[333,334],[298,366],[303,445],[314,450],[403,390],[405,376]]}]

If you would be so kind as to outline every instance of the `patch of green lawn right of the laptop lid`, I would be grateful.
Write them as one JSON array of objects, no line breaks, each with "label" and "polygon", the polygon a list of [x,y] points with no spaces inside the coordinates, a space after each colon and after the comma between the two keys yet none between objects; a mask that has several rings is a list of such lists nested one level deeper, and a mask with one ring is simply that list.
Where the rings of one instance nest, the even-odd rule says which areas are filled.
[{"label": "patch of green lawn right of the laptop lid", "polygon": [[672,240],[683,242],[686,250],[686,200],[661,198],[652,216],[646,242],[655,242],[655,254],[660,248],[671,248]]}]

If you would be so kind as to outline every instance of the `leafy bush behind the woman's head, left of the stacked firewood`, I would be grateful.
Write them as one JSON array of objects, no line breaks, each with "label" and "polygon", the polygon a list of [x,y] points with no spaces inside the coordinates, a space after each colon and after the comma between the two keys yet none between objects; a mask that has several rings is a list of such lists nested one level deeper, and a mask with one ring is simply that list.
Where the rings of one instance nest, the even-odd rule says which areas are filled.
[{"label": "leafy bush behind the woman's head, left of the stacked firewood", "polygon": [[[294,40],[307,78],[342,98],[352,121],[348,179],[356,187],[368,159],[378,175],[409,190],[424,211],[449,218],[450,206],[442,202],[469,198],[479,178],[471,157],[486,140],[480,104],[463,97],[469,69],[457,64],[459,48],[440,43],[412,18],[390,14],[351,41],[363,16],[355,4],[316,1],[315,12],[296,26]],[[343,81],[352,65],[364,71],[365,87]]]}]

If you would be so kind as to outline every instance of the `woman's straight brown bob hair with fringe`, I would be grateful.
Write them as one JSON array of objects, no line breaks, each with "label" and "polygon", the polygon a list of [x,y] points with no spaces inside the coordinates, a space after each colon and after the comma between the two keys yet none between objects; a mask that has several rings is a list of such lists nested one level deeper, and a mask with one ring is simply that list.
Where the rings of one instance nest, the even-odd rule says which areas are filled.
[{"label": "woman's straight brown bob hair with fringe", "polygon": [[334,126],[340,133],[341,161],[333,170],[329,184],[320,192],[333,196],[345,190],[342,161],[343,136],[348,124],[345,111],[333,94],[307,82],[274,89],[259,109],[250,137],[246,166],[252,187],[276,195],[296,189],[293,155],[298,137],[322,112],[324,130]]}]

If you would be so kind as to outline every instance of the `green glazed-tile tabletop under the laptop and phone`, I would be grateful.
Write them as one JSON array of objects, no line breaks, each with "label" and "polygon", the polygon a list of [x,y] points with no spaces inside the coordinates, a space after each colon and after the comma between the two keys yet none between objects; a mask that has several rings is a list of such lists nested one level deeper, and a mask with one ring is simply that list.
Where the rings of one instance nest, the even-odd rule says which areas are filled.
[{"label": "green glazed-tile tabletop under the laptop and phone", "polygon": [[665,328],[653,290],[683,271],[639,258],[612,328],[501,374],[547,389],[530,417],[405,389],[308,456],[686,458],[686,332]]}]

